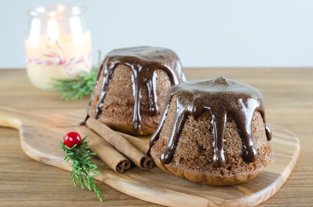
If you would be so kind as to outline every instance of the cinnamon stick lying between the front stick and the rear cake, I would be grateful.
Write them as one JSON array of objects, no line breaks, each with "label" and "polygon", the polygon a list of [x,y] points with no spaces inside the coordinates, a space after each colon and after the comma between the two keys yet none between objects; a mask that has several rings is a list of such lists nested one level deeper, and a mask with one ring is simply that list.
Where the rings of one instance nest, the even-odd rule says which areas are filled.
[{"label": "cinnamon stick lying between the front stick and the rear cake", "polygon": [[109,144],[111,144],[140,169],[149,170],[152,168],[153,160],[150,157],[137,149],[129,141],[127,141],[127,139],[110,129],[105,124],[92,117],[89,117],[85,121],[85,124],[97,132],[102,138],[104,138]]}]

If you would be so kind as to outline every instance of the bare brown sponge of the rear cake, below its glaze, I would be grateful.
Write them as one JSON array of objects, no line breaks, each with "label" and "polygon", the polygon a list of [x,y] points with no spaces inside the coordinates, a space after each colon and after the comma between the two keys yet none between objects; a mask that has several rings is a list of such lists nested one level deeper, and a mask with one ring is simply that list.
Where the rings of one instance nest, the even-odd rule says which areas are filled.
[{"label": "bare brown sponge of the rear cake, below its glaze", "polygon": [[[110,128],[128,133],[137,134],[133,130],[133,88],[131,83],[131,69],[125,65],[117,65],[114,69],[113,77],[109,83],[109,89],[103,101],[101,113],[97,120],[106,124]],[[141,90],[140,114],[142,134],[152,134],[159,122],[162,109],[164,107],[165,96],[168,88],[171,86],[167,73],[163,70],[156,70],[156,96],[159,111],[155,116],[149,114],[149,103],[147,97],[147,89],[144,86]],[[99,100],[101,84],[103,81],[103,72],[100,73],[94,96],[90,103],[88,115],[93,117],[96,104]]]}]

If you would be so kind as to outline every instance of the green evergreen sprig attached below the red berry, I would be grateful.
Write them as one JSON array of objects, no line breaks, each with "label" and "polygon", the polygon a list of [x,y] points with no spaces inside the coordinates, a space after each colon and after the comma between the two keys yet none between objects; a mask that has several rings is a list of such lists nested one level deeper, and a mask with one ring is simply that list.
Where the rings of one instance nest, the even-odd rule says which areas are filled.
[{"label": "green evergreen sprig attached below the red berry", "polygon": [[90,155],[95,155],[95,153],[89,150],[89,146],[84,145],[87,143],[87,141],[85,141],[86,138],[87,136],[81,140],[79,146],[75,144],[71,148],[67,148],[64,142],[60,142],[60,146],[66,153],[64,160],[66,162],[70,159],[73,161],[69,177],[73,180],[74,186],[77,186],[76,180],[78,180],[82,189],[84,189],[85,186],[89,190],[93,189],[94,192],[97,193],[99,200],[103,201],[100,189],[92,180],[92,178],[98,176],[100,172],[97,170],[97,165],[89,160]]}]

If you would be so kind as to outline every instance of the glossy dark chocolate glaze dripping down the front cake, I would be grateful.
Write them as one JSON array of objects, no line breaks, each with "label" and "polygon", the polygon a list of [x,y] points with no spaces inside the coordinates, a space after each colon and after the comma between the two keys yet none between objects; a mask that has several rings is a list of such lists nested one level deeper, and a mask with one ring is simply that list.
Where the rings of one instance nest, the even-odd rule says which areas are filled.
[{"label": "glossy dark chocolate glaze dripping down the front cake", "polygon": [[232,114],[236,121],[248,162],[257,159],[251,128],[254,111],[260,112],[267,140],[271,139],[271,131],[265,123],[261,93],[247,84],[218,76],[211,80],[188,81],[169,88],[160,123],[150,138],[150,147],[159,138],[173,95],[176,95],[177,108],[167,145],[160,154],[162,164],[171,161],[187,115],[197,117],[203,110],[209,110],[212,118],[213,164],[216,167],[225,164],[223,148],[227,113]]}]

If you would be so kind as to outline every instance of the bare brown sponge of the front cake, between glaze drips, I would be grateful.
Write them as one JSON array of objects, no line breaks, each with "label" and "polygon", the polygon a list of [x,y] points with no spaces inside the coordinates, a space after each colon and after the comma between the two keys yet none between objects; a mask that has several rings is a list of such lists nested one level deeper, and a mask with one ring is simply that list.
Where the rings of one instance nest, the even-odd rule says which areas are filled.
[{"label": "bare brown sponge of the front cake, between glaze drips", "polygon": [[160,137],[151,147],[151,156],[162,170],[191,181],[211,185],[231,185],[252,179],[259,174],[269,161],[273,160],[272,149],[267,141],[263,119],[254,112],[252,119],[252,140],[258,151],[254,162],[247,162],[243,155],[242,141],[236,123],[227,114],[224,142],[226,164],[215,167],[212,164],[212,126],[211,116],[204,111],[200,116],[188,116],[177,143],[174,156],[168,164],[161,164],[159,156],[167,144],[173,123],[176,103],[171,101],[168,114],[160,132]]}]

